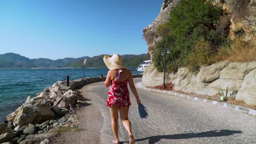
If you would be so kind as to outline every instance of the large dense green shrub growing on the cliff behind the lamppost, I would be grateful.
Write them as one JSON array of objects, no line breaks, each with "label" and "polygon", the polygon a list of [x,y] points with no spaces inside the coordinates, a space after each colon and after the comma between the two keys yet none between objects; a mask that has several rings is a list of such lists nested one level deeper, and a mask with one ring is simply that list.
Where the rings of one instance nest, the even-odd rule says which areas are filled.
[{"label": "large dense green shrub growing on the cliff behind the lamppost", "polygon": [[[198,68],[200,64],[210,64],[212,54],[226,41],[226,32],[217,27],[221,15],[219,7],[205,0],[180,0],[180,4],[170,12],[169,21],[156,30],[162,36],[154,52],[156,68],[163,70],[163,56],[160,52],[164,47],[171,50],[171,54],[166,55],[167,70],[175,71],[182,66]],[[200,48],[206,45],[206,48]],[[206,50],[207,56],[197,60],[196,53]]]}]

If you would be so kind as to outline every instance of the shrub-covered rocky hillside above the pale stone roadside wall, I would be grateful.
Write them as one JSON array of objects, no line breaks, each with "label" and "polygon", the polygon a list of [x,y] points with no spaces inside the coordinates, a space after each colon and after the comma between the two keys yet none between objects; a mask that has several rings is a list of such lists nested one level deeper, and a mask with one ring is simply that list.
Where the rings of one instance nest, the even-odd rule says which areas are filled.
[{"label": "shrub-covered rocky hillside above the pale stone roadside wall", "polygon": [[198,71],[203,65],[229,60],[256,60],[256,3],[252,0],[164,0],[160,14],[144,28],[157,70],[176,72],[187,67]]}]

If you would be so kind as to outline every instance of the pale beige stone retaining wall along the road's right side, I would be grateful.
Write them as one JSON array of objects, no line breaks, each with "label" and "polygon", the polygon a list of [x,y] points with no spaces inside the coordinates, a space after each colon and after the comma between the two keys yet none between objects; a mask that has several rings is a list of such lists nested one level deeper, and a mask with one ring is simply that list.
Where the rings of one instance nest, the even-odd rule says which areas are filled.
[{"label": "pale beige stone retaining wall along the road's right side", "polygon": [[[143,86],[162,85],[163,72],[151,64],[142,76]],[[220,87],[228,93],[238,90],[236,100],[256,105],[256,61],[248,63],[222,61],[210,66],[201,66],[199,72],[180,68],[178,72],[166,73],[166,83],[174,84],[174,90],[215,96]],[[220,87],[219,87],[220,86]]]}]

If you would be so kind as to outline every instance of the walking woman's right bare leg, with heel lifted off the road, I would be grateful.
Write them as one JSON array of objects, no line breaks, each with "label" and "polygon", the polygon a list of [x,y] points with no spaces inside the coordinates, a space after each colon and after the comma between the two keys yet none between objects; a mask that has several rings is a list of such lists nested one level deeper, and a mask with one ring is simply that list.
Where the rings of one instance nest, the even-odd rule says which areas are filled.
[{"label": "walking woman's right bare leg, with heel lifted off the road", "polygon": [[132,127],[130,120],[128,119],[128,112],[129,112],[129,106],[126,106],[124,108],[120,108],[120,117],[123,123],[124,128],[127,130],[129,135],[130,144],[134,144],[134,137],[132,135]]}]

